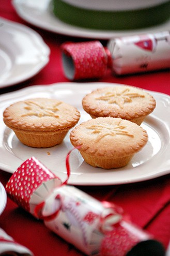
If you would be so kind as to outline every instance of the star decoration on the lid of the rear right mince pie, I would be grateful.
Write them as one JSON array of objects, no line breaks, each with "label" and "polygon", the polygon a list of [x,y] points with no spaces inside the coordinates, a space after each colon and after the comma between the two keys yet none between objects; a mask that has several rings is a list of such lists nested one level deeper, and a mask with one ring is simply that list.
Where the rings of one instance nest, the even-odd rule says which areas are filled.
[{"label": "star decoration on the lid of the rear right mince pie", "polygon": [[144,95],[138,93],[131,93],[129,88],[123,89],[123,91],[106,92],[104,95],[97,97],[98,100],[107,101],[109,104],[117,104],[121,109],[126,102],[132,102],[132,98],[144,98]]}]

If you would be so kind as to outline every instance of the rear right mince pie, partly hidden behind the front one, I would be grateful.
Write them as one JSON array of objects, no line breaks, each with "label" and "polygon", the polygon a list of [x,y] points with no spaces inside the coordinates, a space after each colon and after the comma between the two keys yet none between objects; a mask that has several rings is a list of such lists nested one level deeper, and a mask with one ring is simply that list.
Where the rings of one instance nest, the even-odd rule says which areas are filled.
[{"label": "rear right mince pie, partly hidden behind the front one", "polygon": [[140,125],[156,108],[156,100],[143,89],[133,86],[107,86],[86,95],[82,106],[92,118],[119,117]]}]

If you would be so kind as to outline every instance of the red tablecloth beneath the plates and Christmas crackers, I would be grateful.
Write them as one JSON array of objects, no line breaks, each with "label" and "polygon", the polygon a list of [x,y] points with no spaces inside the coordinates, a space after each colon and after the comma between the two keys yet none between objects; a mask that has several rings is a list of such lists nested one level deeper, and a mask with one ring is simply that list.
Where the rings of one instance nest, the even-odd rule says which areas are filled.
[{"label": "red tablecloth beneath the plates and Christmas crackers", "polygon": [[[32,27],[42,36],[51,50],[49,63],[35,77],[15,86],[1,88],[0,94],[16,91],[26,86],[48,86],[57,82],[69,82],[65,78],[61,66],[60,45],[68,40],[83,41],[83,39],[58,35],[28,24],[18,16],[10,0],[0,0],[0,6],[1,17]],[[169,70],[125,77],[115,77],[108,71],[106,76],[100,79],[100,82],[135,85],[168,95],[170,94],[169,81]],[[0,181],[4,186],[10,176],[10,173],[0,171]],[[163,243],[165,248],[167,247],[170,239],[170,175],[134,184],[79,188],[99,200],[108,200],[122,206],[134,223],[149,231]],[[36,256],[82,254],[45,228],[41,221],[30,216],[10,199],[0,216],[0,227],[17,242],[32,250]]]}]

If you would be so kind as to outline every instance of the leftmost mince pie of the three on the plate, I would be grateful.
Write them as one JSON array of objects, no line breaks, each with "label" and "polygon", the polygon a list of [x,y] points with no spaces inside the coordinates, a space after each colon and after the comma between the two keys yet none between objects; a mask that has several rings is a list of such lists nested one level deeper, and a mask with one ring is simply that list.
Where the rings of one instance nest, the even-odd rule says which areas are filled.
[{"label": "leftmost mince pie of the three on the plate", "polygon": [[35,98],[18,101],[5,109],[4,123],[18,139],[32,147],[50,147],[63,141],[80,112],[57,99]]}]

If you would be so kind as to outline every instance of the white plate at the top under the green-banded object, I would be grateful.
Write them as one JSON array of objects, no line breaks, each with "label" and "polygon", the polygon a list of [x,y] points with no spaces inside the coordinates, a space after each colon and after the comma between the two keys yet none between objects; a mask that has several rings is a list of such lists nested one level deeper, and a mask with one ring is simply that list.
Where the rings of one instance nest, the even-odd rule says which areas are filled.
[{"label": "white plate at the top under the green-banded object", "polygon": [[51,0],[13,0],[14,8],[21,18],[30,24],[47,29],[48,31],[68,36],[110,39],[115,36],[125,36],[132,34],[141,34],[147,32],[158,32],[169,30],[169,21],[159,26],[145,29],[138,29],[130,32],[126,31],[100,31],[95,29],[86,29],[66,24],[54,17],[51,9]]}]

